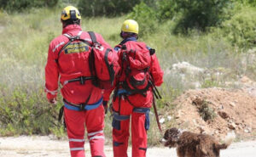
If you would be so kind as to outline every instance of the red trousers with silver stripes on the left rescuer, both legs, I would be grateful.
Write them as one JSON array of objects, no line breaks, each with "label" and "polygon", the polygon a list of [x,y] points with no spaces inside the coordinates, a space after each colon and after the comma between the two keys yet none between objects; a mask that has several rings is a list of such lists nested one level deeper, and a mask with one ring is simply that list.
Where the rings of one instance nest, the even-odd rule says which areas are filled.
[{"label": "red trousers with silver stripes on the left rescuer, both legs", "polygon": [[[64,108],[65,122],[67,125],[67,136],[69,139],[70,154],[72,157],[84,157],[84,127],[88,134],[94,133],[90,142],[91,156],[102,156],[104,154],[104,108],[100,105],[96,109],[87,111],[76,111]],[[84,126],[85,124],[85,126]]]}]

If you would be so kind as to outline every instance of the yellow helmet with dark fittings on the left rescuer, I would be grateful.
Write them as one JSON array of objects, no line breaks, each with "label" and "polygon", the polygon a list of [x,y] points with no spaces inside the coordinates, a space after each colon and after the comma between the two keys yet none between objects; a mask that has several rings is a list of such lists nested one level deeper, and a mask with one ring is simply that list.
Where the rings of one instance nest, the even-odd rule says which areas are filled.
[{"label": "yellow helmet with dark fittings on the left rescuer", "polygon": [[61,20],[69,20],[69,19],[81,19],[81,15],[79,13],[79,9],[73,6],[67,6],[63,8],[61,12]]}]

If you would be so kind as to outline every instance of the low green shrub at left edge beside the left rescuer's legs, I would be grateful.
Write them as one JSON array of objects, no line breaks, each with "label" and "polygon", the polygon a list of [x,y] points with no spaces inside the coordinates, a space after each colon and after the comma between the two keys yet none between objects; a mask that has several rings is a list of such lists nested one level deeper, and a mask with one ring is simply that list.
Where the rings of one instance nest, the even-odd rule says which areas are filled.
[{"label": "low green shrub at left edge beside the left rescuer's legs", "polygon": [[47,135],[52,130],[61,129],[56,121],[60,106],[48,104],[44,90],[33,93],[24,87],[16,87],[14,91],[0,88],[1,136]]}]

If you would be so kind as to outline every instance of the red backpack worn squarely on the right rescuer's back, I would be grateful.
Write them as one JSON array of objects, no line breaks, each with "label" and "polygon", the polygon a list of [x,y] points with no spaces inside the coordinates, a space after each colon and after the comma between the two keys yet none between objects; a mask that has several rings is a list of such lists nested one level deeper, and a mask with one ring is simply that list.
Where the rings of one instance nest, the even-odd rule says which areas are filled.
[{"label": "red backpack worn squarely on the right rescuer's back", "polygon": [[121,48],[121,71],[125,73],[122,87],[129,93],[140,93],[145,96],[150,84],[149,68],[154,49],[148,50],[144,42],[125,42]]}]

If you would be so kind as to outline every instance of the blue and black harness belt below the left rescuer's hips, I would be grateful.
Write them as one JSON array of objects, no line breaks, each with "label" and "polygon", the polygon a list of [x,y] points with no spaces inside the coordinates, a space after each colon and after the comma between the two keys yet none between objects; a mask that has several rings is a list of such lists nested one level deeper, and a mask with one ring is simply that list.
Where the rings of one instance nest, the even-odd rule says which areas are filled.
[{"label": "blue and black harness belt below the left rescuer's hips", "polygon": [[95,104],[72,104],[70,102],[68,102],[66,99],[64,99],[64,106],[67,109],[71,109],[71,110],[91,110],[91,109],[96,109],[100,106],[100,104],[102,104],[102,100],[103,98],[100,98],[99,101],[97,101]]}]

